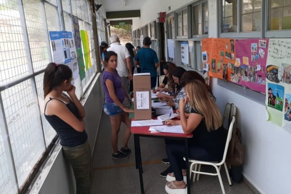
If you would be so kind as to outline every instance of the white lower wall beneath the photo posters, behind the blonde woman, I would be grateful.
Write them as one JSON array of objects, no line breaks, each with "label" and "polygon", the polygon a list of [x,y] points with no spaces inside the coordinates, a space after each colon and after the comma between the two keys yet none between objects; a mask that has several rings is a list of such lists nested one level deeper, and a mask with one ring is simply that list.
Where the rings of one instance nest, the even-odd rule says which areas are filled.
[{"label": "white lower wall beneath the photo posters, behind the blonde woman", "polygon": [[290,193],[291,134],[266,121],[264,105],[217,85],[217,79],[211,81],[220,110],[227,102],[238,108],[237,127],[245,147],[244,177],[261,193]]}]

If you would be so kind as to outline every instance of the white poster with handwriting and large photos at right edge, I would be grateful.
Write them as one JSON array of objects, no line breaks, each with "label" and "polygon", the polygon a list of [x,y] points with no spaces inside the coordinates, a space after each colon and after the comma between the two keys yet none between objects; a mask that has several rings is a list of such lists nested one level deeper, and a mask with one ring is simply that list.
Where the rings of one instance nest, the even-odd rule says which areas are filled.
[{"label": "white poster with handwriting and large photos at right edge", "polygon": [[[266,109],[269,121],[291,131],[291,39],[269,39],[266,63],[266,81],[268,86],[279,85],[281,91],[266,87]],[[279,94],[279,98],[277,96]],[[272,100],[271,100],[271,99]],[[277,100],[279,99],[279,100]]]}]

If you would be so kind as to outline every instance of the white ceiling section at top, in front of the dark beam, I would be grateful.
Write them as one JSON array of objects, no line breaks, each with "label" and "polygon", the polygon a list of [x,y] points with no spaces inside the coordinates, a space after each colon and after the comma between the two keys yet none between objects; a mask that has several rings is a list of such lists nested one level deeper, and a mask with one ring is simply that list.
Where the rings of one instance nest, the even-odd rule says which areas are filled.
[{"label": "white ceiling section at top, in front of the dark beam", "polygon": [[[146,0],[98,0],[105,12],[140,10]],[[125,6],[123,7],[125,1]]]}]

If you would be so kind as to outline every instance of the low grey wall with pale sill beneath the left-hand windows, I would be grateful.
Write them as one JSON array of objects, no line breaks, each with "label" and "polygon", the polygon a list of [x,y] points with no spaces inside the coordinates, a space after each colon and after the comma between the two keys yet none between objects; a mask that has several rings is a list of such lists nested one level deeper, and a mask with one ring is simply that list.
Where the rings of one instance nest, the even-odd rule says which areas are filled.
[{"label": "low grey wall with pale sill beneath the left-hand windows", "polygon": [[[103,111],[104,93],[102,76],[98,74],[92,81],[84,99],[81,101],[86,110],[86,132],[93,153],[98,127]],[[70,164],[65,161],[62,146],[58,144],[52,151],[48,162],[32,186],[30,194],[74,194],[75,179]]]}]

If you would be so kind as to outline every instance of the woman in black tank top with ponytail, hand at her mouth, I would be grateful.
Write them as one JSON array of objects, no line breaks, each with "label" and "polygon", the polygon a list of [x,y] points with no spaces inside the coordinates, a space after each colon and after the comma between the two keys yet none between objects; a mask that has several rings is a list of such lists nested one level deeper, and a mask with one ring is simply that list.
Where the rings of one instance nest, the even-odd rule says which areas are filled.
[{"label": "woman in black tank top with ponytail, hand at her mouth", "polygon": [[[77,194],[89,193],[91,159],[85,131],[85,109],[71,84],[67,65],[50,63],[45,69],[45,117],[59,135],[63,153],[74,171]],[[67,92],[66,96],[63,92]]]}]

